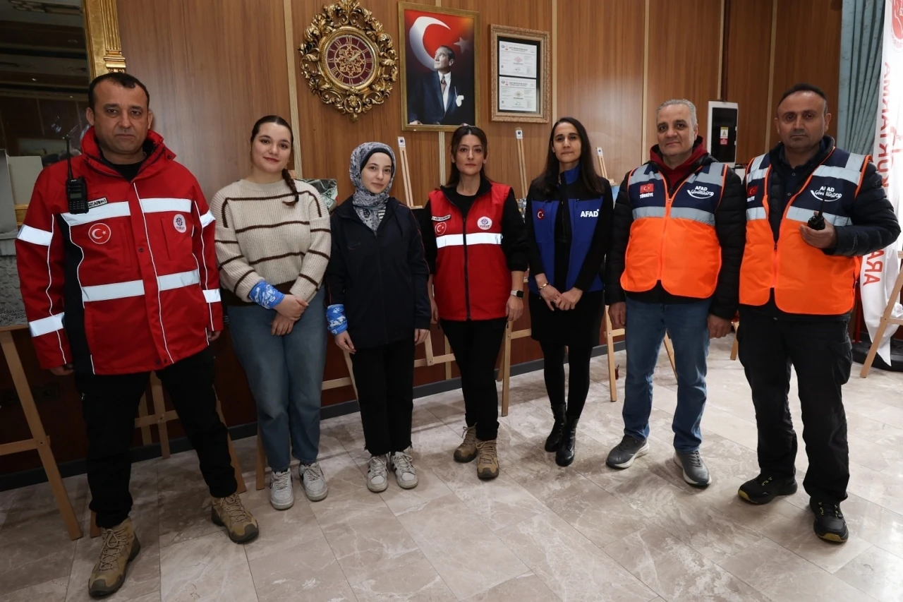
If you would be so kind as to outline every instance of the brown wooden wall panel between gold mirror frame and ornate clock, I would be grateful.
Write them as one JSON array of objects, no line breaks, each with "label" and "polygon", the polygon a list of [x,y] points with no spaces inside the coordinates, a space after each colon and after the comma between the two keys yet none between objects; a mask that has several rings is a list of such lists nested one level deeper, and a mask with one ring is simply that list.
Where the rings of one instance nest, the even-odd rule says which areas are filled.
[{"label": "brown wooden wall panel between gold mirror frame and ornate clock", "polygon": [[244,177],[256,119],[290,117],[282,3],[154,0],[117,9],[128,71],[150,90],[166,145],[208,196]]}]

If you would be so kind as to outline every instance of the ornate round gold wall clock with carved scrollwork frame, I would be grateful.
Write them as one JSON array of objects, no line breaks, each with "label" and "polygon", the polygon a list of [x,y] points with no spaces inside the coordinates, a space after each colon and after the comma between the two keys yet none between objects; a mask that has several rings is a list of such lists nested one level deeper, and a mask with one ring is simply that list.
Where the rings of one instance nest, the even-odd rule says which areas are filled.
[{"label": "ornate round gold wall clock with carved scrollwork frame", "polygon": [[398,76],[392,38],[357,0],[323,6],[298,50],[311,91],[351,121],[384,103]]}]

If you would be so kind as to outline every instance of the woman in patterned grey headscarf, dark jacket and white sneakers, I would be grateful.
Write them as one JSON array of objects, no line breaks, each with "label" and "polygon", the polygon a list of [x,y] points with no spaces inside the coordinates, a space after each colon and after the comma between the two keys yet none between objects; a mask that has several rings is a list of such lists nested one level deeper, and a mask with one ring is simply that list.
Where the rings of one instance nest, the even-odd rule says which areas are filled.
[{"label": "woman in patterned grey headscarf, dark jacket and white sneakers", "polygon": [[331,217],[326,271],[327,321],[351,355],[360,419],[370,453],[367,487],[379,493],[388,471],[405,489],[417,485],[411,454],[414,345],[430,327],[430,270],[414,213],[392,196],[395,154],[368,142],[351,153],[355,191]]}]

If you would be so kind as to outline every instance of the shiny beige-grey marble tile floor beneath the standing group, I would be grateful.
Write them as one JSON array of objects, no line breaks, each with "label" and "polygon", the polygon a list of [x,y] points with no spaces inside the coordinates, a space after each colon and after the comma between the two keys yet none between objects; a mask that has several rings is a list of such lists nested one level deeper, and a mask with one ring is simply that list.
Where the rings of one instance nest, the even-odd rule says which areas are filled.
[{"label": "shiny beige-grey marble tile floor beneath the standing group", "polygon": [[[749,387],[729,359],[731,342],[712,343],[703,457],[713,482],[705,490],[684,484],[671,458],[676,381],[664,353],[651,453],[626,471],[605,466],[622,423],[603,356],[593,360],[577,459],[566,469],[542,449],[551,415],[541,372],[512,379],[494,482],[452,460],[463,422],[458,390],[415,401],[420,485],[411,491],[393,481],[384,494],[368,492],[357,414],[322,424],[330,496],[308,503],[295,483],[295,505],[285,512],[254,490],[254,439],[237,441],[248,470],[244,500],[262,532],[245,546],[209,522],[192,452],[135,465],[132,516],[143,548],[108,599],[903,600],[903,374],[873,371],[861,380],[854,366],[844,389],[851,536],[836,546],[815,538],[802,486],[763,507],[737,498],[758,471]],[[623,353],[616,361],[623,368]],[[800,432],[795,393],[791,408]],[[801,455],[800,482],[806,467]],[[87,531],[87,481],[76,476],[66,486]],[[99,545],[69,540],[46,484],[0,493],[0,602],[88,600]]]}]

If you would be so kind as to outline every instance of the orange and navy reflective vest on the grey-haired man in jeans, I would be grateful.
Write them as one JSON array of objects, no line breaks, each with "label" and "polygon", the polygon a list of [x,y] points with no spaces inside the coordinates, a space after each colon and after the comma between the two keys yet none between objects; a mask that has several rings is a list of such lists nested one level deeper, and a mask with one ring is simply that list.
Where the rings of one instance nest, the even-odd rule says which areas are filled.
[{"label": "orange and navy reflective vest on the grey-haired man in jeans", "polygon": [[641,293],[661,282],[672,295],[712,296],[721,269],[715,211],[727,170],[721,163],[703,165],[673,194],[652,164],[629,174],[634,221],[621,276],[624,290]]}]

